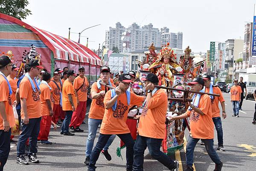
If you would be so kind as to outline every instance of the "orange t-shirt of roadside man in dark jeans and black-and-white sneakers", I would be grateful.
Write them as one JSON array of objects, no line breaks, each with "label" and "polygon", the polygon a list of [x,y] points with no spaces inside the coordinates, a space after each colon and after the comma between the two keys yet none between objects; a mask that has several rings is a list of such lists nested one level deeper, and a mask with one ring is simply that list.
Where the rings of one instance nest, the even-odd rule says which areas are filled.
[{"label": "orange t-shirt of roadside man in dark jeans and black-and-white sneakers", "polygon": [[[36,91],[34,92],[30,84],[29,78],[26,76],[20,81],[20,99],[26,99],[27,114],[29,119],[40,118],[41,115],[41,99],[39,95],[39,90],[36,87],[35,81],[33,79]],[[23,109],[20,110],[21,119],[24,119]]]}]

